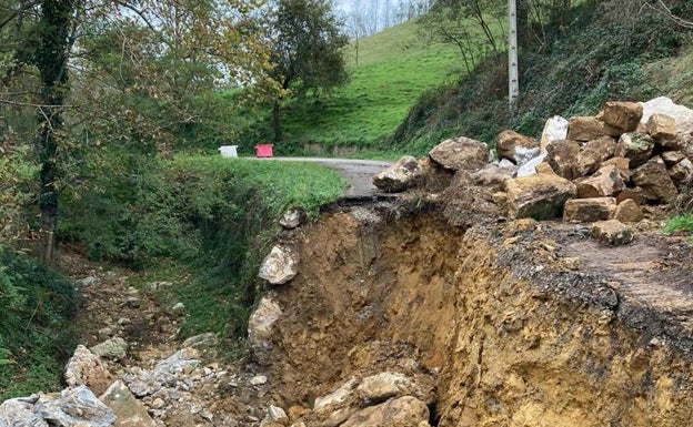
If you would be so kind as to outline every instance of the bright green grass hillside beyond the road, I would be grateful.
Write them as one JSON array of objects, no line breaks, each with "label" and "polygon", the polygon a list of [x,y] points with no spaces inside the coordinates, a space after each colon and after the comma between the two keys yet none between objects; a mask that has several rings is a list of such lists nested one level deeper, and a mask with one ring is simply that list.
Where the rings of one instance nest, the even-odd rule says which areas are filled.
[{"label": "bright green grass hillside beyond the road", "polygon": [[388,138],[422,92],[460,73],[456,49],[431,43],[418,30],[406,22],[360,40],[358,64],[352,43],[351,81],[331,95],[289,102],[282,111],[285,142],[275,149],[369,148]]}]

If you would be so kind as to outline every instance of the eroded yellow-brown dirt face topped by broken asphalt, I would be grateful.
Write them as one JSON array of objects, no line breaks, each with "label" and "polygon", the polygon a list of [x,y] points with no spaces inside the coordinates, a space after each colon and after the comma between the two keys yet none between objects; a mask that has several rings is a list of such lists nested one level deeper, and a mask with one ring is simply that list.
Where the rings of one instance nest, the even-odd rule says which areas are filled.
[{"label": "eroded yellow-brown dirt face topped by broken asphalt", "polygon": [[432,425],[691,425],[689,244],[389,215],[328,215],[301,232],[297,278],[268,289],[269,400],[292,421],[329,425],[317,398],[398,372],[434,378]]}]

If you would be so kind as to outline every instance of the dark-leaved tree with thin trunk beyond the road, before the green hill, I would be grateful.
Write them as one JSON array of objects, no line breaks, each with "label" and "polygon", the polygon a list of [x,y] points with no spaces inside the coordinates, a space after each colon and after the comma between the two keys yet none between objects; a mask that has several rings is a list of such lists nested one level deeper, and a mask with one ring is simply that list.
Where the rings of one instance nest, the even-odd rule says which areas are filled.
[{"label": "dark-leaved tree with thin trunk beyond the road, before the green hill", "polygon": [[[328,0],[279,0],[268,22],[272,38],[272,75],[283,93],[305,95],[346,83],[342,50],[349,42]],[[274,140],[282,140],[280,108],[274,98]]]}]

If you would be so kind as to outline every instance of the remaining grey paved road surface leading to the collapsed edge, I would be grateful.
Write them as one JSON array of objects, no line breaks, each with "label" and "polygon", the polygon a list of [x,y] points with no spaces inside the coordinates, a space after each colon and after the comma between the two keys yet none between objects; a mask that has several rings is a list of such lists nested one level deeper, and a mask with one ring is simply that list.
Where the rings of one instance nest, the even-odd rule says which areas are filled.
[{"label": "remaining grey paved road surface leading to the collapsed edge", "polygon": [[382,160],[355,160],[332,157],[247,157],[262,162],[310,162],[319,163],[325,167],[334,169],[346,180],[351,187],[346,191],[348,197],[368,197],[375,195],[378,189],[371,179],[374,174],[390,166],[392,162]]}]

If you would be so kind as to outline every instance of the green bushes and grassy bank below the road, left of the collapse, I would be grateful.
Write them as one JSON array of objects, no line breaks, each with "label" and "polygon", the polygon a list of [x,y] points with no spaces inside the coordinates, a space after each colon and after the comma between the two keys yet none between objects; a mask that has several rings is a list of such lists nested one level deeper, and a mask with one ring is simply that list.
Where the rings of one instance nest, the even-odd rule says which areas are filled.
[{"label": "green bushes and grassy bank below the road, left of the collapse", "polygon": [[123,173],[107,171],[93,191],[66,200],[60,238],[140,271],[142,281],[174,282],[187,309],[182,338],[242,339],[281,213],[301,206],[314,218],[345,189],[335,171],[309,163],[113,160],[121,165],[108,167]]}]

